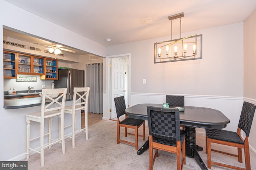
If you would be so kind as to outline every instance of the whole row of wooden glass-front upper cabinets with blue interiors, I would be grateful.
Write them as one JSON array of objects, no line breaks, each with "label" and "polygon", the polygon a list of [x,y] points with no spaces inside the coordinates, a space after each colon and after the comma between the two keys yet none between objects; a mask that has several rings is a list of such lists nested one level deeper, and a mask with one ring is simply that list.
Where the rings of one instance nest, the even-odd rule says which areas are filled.
[{"label": "whole row of wooden glass-front upper cabinets with blue interiors", "polygon": [[4,78],[17,78],[17,74],[40,75],[43,80],[57,80],[58,61],[4,51]]}]

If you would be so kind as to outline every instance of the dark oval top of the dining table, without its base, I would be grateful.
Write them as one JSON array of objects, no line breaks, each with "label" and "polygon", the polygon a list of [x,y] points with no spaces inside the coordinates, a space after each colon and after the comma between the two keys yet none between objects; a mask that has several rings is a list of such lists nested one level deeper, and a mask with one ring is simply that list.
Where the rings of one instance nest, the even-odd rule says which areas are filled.
[{"label": "dark oval top of the dining table, without its base", "polygon": [[[137,104],[125,111],[128,117],[148,120],[147,106],[162,107],[162,104]],[[228,123],[230,120],[216,109],[184,106],[184,111],[180,111],[180,125],[222,129]]]}]

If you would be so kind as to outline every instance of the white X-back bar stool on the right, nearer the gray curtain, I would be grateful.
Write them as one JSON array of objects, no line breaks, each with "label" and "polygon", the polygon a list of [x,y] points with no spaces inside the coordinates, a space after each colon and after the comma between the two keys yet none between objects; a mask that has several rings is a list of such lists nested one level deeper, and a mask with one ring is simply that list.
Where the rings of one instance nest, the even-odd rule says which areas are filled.
[{"label": "white X-back bar stool on the right, nearer the gray curtain", "polygon": [[[81,131],[85,132],[86,140],[88,140],[88,98],[90,87],[74,87],[73,103],[71,106],[65,106],[65,113],[72,114],[72,123],[66,127],[72,126],[72,136],[65,135],[72,138],[72,147],[75,147],[75,134]],[[83,129],[76,128],[76,111],[84,110],[85,127]]]}]

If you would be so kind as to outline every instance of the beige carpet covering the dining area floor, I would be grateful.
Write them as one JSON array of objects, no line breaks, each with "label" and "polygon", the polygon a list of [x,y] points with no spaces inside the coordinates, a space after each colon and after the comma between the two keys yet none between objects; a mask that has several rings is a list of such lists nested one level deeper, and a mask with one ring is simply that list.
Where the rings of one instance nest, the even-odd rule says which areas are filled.
[{"label": "beige carpet covering the dining area floor", "polygon": [[[142,133],[140,128],[140,133]],[[132,131],[130,131],[132,132]],[[148,136],[148,131],[146,131]],[[124,129],[121,128],[121,137],[124,139]],[[134,136],[128,135],[127,140],[134,141]],[[202,160],[207,166],[207,154],[205,153],[205,137],[197,136],[197,144],[204,148],[199,152]],[[66,154],[62,154],[61,145],[56,144],[51,149],[45,149],[44,167],[40,166],[40,154],[30,156],[28,170],[147,170],[149,168],[149,151],[137,155],[135,147],[124,143],[116,144],[116,121],[98,121],[89,125],[89,140],[86,141],[85,134],[76,135],[76,148],[72,148],[71,139],[65,140]],[[144,141],[139,137],[139,146]],[[212,148],[218,148],[212,146]],[[221,150],[232,150],[230,147],[219,147]],[[215,161],[231,162],[233,165],[240,165],[236,158],[220,153],[212,152],[212,159]],[[26,159],[24,159],[26,160]],[[256,167],[256,156],[250,154],[251,167]],[[244,157],[243,157],[244,161]],[[154,163],[155,170],[175,170],[176,154],[159,150],[159,156]],[[212,166],[212,170],[221,170],[218,166]],[[227,169],[227,168],[226,168]],[[186,156],[186,165],[183,170],[200,170],[200,167],[193,158]]]}]

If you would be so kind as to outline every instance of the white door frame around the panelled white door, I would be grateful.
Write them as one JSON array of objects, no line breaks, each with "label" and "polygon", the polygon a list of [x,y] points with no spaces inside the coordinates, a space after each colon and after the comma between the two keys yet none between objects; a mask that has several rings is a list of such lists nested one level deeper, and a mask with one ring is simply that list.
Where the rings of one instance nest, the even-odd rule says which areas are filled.
[{"label": "white door frame around the panelled white door", "polygon": [[106,111],[107,111],[107,120],[110,119],[110,107],[111,107],[111,86],[110,86],[110,58],[117,58],[117,57],[129,57],[129,66],[128,66],[128,106],[130,105],[130,99],[131,99],[131,53],[126,54],[119,54],[119,55],[109,55],[106,56]]}]

